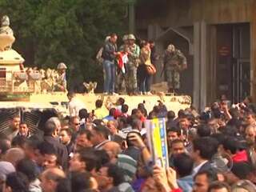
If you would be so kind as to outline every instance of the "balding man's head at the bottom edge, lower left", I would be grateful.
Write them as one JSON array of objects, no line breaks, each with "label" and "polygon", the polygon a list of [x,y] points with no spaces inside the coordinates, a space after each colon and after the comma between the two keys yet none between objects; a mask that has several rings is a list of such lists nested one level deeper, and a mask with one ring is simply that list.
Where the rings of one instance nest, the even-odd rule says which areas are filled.
[{"label": "balding man's head at the bottom edge, lower left", "polygon": [[43,192],[55,192],[58,181],[66,178],[65,173],[58,168],[50,168],[45,170],[41,175],[41,184]]}]

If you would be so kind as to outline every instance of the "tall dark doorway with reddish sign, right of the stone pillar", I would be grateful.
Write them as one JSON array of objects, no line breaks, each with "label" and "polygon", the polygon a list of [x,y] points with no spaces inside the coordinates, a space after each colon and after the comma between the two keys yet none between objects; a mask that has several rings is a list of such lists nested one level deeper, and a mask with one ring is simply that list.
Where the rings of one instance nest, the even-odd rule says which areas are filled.
[{"label": "tall dark doorway with reddish sign, right of the stone pillar", "polygon": [[217,95],[234,103],[250,95],[250,24],[217,26]]}]

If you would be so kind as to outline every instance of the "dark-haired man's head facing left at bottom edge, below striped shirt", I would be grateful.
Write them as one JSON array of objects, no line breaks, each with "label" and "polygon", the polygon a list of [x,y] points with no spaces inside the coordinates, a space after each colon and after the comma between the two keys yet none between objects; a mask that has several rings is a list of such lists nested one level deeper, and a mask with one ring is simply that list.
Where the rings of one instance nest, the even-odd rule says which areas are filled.
[{"label": "dark-haired man's head facing left at bottom edge, below striped shirt", "polygon": [[106,164],[99,170],[98,187],[99,190],[110,190],[114,186],[124,182],[122,170],[113,164]]}]

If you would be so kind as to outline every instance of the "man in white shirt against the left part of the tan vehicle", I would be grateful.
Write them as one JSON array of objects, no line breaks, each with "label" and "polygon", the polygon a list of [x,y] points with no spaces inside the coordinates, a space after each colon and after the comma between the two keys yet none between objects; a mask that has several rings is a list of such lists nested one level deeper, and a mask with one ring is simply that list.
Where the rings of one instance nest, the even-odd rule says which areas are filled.
[{"label": "man in white shirt against the left part of the tan vehicle", "polygon": [[78,98],[75,98],[74,92],[69,92],[67,94],[67,98],[69,98],[69,110],[70,117],[78,116],[79,110],[85,109],[85,104],[80,101]]}]

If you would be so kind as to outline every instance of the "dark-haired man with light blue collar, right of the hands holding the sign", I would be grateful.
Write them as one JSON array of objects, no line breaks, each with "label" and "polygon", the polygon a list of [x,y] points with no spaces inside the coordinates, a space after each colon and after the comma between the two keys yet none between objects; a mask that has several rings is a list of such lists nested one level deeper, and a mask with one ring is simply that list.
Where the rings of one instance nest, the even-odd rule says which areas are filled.
[{"label": "dark-haired man with light blue collar, right of the hands holding the sign", "polygon": [[188,154],[177,154],[174,157],[174,168],[178,174],[178,186],[184,191],[191,191],[194,184],[191,175],[193,170],[193,159]]}]

